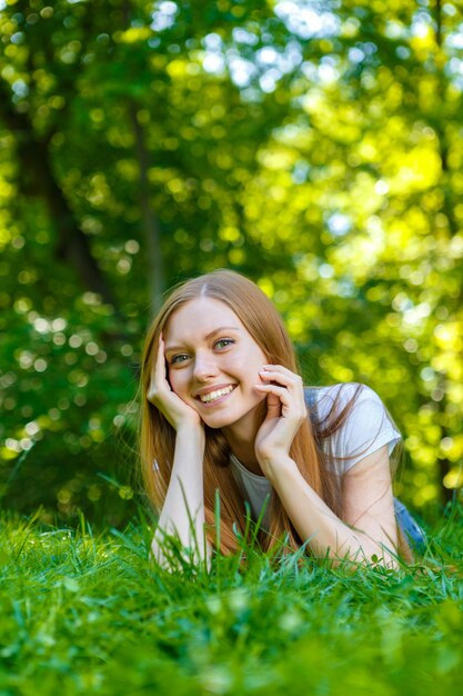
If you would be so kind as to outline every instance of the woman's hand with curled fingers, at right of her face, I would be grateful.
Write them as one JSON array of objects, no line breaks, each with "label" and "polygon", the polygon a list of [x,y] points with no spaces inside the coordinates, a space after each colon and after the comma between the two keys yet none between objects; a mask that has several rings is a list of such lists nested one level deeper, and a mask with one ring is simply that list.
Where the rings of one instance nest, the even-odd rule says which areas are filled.
[{"label": "woman's hand with curled fingers, at right of her face", "polygon": [[266,417],[255,437],[254,448],[265,474],[269,466],[289,457],[291,444],[308,411],[299,375],[281,365],[265,365],[260,377],[268,382],[255,385],[260,392],[268,395]]}]

